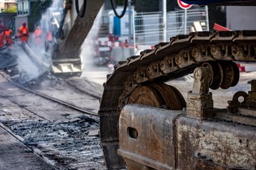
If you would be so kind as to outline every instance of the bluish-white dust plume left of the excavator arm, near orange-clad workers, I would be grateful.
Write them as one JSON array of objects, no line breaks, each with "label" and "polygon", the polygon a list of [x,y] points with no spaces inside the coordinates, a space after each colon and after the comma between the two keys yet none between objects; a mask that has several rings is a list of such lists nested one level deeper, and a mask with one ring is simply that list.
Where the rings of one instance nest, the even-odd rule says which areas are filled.
[{"label": "bluish-white dust plume left of the excavator arm, near orange-clad workers", "polygon": [[[18,54],[18,64],[16,69],[18,69],[19,74],[14,78],[18,79],[19,82],[26,83],[33,79],[37,79],[45,72],[50,72],[52,62],[50,59],[50,54],[47,54],[45,50],[46,33],[49,30],[54,32],[58,29],[63,11],[62,3],[62,0],[53,1],[50,8],[48,8],[46,12],[42,14],[41,21],[35,25],[35,28],[40,26],[41,30],[43,30],[43,35],[40,42],[36,42],[34,33],[30,33],[28,38],[28,47],[29,50],[31,50],[30,52],[32,57],[28,57],[28,55],[26,55],[26,53],[22,50],[20,40],[17,41],[18,43],[16,43],[15,53]],[[55,26],[54,28],[53,25]]]}]

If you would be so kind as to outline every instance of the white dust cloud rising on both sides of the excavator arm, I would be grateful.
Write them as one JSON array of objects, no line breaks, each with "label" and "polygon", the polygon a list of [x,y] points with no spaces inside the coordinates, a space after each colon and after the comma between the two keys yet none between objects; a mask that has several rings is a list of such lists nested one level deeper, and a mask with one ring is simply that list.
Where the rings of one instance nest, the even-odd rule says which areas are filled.
[{"label": "white dust cloud rising on both sides of the excavator arm", "polygon": [[[38,23],[36,26],[40,26],[43,30],[43,37],[41,38],[40,43],[35,42],[35,38],[33,33],[31,33],[30,38],[28,40],[28,46],[30,47],[31,51],[33,52],[34,58],[36,58],[36,61],[43,62],[43,64],[34,64],[34,62],[31,60],[31,57],[26,56],[26,54],[23,52],[23,50],[20,50],[18,52],[18,70],[25,73],[25,77],[29,77],[29,79],[23,79],[23,81],[30,81],[31,79],[37,79],[45,72],[50,72],[50,67],[52,65],[51,62],[51,50],[46,52],[45,42],[46,42],[46,34],[50,30],[53,34],[53,43],[57,42],[57,40],[54,38],[54,35],[58,33],[58,28],[61,26],[61,20],[63,18],[63,1],[62,0],[55,0],[53,1],[53,4],[50,6],[50,8],[47,9],[45,13],[43,13],[41,17],[40,23]],[[70,19],[68,18],[68,15],[65,18],[66,20]],[[97,14],[97,17],[95,18],[95,22],[87,35],[87,38],[82,44],[81,47],[81,60],[83,64],[83,71],[88,70],[96,70],[97,67],[94,66],[95,58],[97,57],[97,47],[95,45],[95,42],[97,40],[97,34],[100,30],[100,21],[102,19],[102,8],[100,9],[99,13]],[[67,22],[68,23],[68,22]],[[69,26],[63,26],[63,31],[70,30]],[[64,33],[65,35],[65,33]],[[51,45],[53,46],[53,45]],[[109,68],[105,68],[107,72],[110,72]],[[105,70],[103,70],[105,72]],[[84,73],[82,73],[84,74]]]}]

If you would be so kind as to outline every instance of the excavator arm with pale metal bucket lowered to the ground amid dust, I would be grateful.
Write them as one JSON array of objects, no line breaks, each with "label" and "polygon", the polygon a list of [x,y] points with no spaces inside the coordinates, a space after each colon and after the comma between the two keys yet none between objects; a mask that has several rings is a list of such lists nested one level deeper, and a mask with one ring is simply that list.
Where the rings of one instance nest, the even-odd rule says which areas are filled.
[{"label": "excavator arm with pale metal bucket lowered to the ground amid dust", "polygon": [[63,4],[63,21],[51,54],[53,73],[77,75],[82,73],[82,42],[92,28],[104,0],[65,0]]}]

